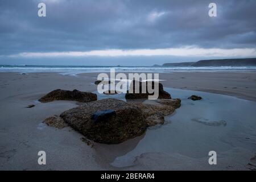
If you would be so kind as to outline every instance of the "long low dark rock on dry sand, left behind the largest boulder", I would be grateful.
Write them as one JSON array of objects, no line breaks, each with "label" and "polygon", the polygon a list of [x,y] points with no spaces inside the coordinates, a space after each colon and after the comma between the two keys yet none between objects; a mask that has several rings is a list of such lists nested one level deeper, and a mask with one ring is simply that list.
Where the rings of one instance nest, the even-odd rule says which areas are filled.
[{"label": "long low dark rock on dry sand, left behind the largest boulder", "polygon": [[91,92],[81,92],[76,89],[73,91],[57,89],[39,99],[40,102],[51,102],[55,100],[91,102],[97,100],[97,94]]}]

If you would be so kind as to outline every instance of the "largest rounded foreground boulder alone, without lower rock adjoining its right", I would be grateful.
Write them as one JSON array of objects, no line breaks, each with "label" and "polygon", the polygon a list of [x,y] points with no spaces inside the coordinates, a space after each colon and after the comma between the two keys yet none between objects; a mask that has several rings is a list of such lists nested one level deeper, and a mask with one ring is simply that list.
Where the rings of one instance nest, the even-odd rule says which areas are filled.
[{"label": "largest rounded foreground boulder alone, without lower rock adjoining its right", "polygon": [[[106,108],[113,110],[115,114],[112,111],[111,117],[102,117],[104,122],[95,122],[93,114]],[[86,138],[99,143],[121,143],[142,135],[147,127],[146,119],[138,106],[113,98],[88,102],[64,111],[60,117]]]}]

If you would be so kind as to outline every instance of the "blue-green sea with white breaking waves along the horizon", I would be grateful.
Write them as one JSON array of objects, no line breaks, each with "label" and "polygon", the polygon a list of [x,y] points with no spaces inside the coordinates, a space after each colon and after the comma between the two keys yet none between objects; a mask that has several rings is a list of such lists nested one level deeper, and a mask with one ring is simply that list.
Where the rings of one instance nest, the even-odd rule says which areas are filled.
[{"label": "blue-green sea with white breaking waves along the horizon", "polygon": [[256,67],[126,67],[126,66],[84,66],[84,65],[0,65],[0,72],[37,73],[56,72],[63,75],[77,75],[93,72],[255,72]]}]

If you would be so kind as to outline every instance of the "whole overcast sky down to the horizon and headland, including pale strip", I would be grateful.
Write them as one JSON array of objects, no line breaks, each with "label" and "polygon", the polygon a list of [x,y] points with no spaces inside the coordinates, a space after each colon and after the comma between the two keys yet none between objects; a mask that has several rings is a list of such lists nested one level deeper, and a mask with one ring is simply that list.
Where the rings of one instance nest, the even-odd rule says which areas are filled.
[{"label": "whole overcast sky down to the horizon and headland, including pale strip", "polygon": [[[38,3],[46,17],[38,16]],[[209,3],[217,17],[208,15]],[[256,57],[256,1],[0,0],[0,64]]]}]

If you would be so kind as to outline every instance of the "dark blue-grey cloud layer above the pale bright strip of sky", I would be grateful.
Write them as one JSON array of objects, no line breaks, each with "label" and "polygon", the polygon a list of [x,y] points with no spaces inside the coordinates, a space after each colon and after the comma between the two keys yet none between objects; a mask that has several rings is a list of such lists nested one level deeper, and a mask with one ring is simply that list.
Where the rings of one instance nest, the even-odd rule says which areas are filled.
[{"label": "dark blue-grey cloud layer above the pale bright strip of sky", "polygon": [[[39,18],[38,3],[47,6]],[[208,16],[210,2],[217,17]],[[0,1],[0,55],[20,52],[254,48],[256,1]]]}]

